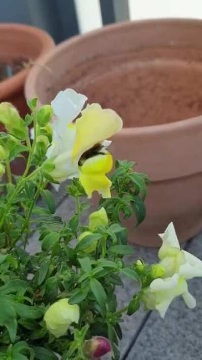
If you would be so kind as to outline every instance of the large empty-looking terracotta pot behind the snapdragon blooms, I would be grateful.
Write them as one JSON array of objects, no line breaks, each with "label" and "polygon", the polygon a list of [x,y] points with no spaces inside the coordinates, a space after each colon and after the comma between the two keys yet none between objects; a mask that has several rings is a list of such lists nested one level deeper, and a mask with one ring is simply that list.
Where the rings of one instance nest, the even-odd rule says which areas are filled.
[{"label": "large empty-looking terracotta pot behind the snapdragon blooms", "polygon": [[127,223],[137,244],[159,245],[170,221],[181,242],[202,226],[201,37],[199,20],[106,26],[56,47],[27,79],[27,98],[47,103],[71,87],[122,116],[113,154],[136,161],[153,182],[146,220],[137,229]]}]

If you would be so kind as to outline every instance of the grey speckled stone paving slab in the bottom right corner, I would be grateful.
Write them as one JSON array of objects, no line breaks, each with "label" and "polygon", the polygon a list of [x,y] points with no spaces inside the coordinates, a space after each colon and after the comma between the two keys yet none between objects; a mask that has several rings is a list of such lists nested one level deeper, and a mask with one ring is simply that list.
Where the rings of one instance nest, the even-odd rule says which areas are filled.
[{"label": "grey speckled stone paving slab in the bottom right corner", "polygon": [[[202,234],[187,246],[187,251],[202,259]],[[132,344],[127,360],[201,360],[202,359],[202,279],[189,281],[189,291],[197,307],[188,309],[181,298],[171,304],[165,319],[151,312]]]}]

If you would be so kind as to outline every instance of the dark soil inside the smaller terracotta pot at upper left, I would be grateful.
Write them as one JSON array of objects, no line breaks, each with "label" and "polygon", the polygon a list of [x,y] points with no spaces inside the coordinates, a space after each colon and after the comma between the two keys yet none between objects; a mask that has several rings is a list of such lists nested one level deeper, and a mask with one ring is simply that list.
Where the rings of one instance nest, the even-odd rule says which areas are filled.
[{"label": "dark soil inside the smaller terracotta pot at upper left", "polygon": [[26,63],[28,63],[28,59],[24,57],[14,59],[10,62],[0,62],[0,81],[17,74],[17,72],[26,66]]}]

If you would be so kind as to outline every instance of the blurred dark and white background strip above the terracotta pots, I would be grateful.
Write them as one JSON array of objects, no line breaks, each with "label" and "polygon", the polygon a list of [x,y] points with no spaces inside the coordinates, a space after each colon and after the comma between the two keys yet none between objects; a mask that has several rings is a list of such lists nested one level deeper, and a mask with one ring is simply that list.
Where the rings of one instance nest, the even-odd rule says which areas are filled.
[{"label": "blurred dark and white background strip above the terracotta pots", "polygon": [[7,0],[0,22],[37,26],[56,43],[103,25],[148,18],[202,18],[201,0]]}]

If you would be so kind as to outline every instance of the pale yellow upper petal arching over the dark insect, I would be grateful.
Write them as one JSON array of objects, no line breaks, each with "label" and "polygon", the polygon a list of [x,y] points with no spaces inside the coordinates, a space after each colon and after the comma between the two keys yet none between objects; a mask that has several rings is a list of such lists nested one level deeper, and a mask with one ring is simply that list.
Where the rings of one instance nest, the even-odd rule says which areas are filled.
[{"label": "pale yellow upper petal arching over the dark insect", "polygon": [[121,128],[122,119],[115,111],[102,109],[99,104],[88,105],[76,121],[76,139],[72,157],[80,158],[86,150],[109,139]]}]

